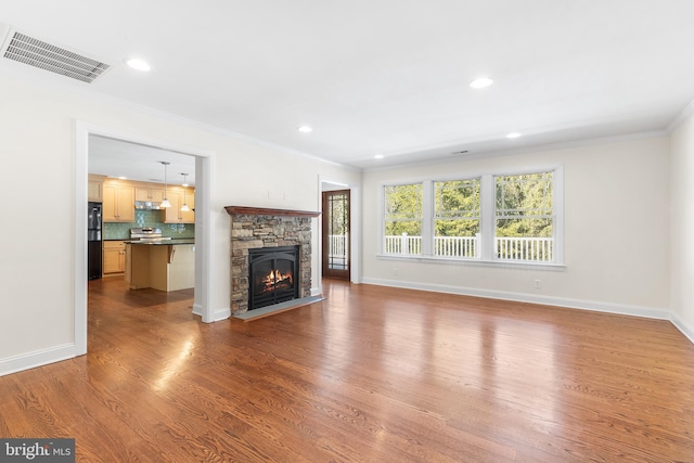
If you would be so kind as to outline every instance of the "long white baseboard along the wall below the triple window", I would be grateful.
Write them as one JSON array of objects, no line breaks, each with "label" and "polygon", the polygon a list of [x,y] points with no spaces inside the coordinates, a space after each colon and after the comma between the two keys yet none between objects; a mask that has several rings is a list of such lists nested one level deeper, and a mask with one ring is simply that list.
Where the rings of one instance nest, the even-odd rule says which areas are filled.
[{"label": "long white baseboard along the wall below the triple window", "polygon": [[441,284],[413,283],[398,280],[364,278],[367,284],[394,286],[408,290],[429,291],[435,293],[459,294],[461,296],[487,297],[490,299],[515,300],[518,303],[541,304],[544,306],[566,307],[570,309],[593,310],[605,313],[643,317],[657,320],[671,320],[667,309],[628,306],[624,304],[600,303],[595,300],[570,299],[566,297],[542,296],[539,294],[511,293],[505,291],[480,290],[474,287],[448,286]]}]

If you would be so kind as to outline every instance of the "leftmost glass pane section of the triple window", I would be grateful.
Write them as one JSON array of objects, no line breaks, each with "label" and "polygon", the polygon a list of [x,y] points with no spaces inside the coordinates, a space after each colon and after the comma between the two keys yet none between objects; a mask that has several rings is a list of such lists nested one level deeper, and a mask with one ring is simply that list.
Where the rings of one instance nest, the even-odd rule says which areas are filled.
[{"label": "leftmost glass pane section of the triple window", "polygon": [[422,253],[422,183],[385,187],[385,249]]}]

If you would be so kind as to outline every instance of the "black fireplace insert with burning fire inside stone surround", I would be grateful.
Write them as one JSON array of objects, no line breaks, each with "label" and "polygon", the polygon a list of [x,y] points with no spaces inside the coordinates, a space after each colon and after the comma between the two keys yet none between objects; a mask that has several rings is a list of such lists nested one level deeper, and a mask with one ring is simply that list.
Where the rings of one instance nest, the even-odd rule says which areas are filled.
[{"label": "black fireplace insert with burning fire inside stone surround", "polygon": [[248,310],[298,298],[299,247],[248,249]]}]

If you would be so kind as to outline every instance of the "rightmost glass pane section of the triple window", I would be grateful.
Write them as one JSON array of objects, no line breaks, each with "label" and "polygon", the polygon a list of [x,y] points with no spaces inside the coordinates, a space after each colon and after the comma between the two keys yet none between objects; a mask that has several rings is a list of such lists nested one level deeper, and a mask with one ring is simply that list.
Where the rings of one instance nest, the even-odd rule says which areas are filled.
[{"label": "rightmost glass pane section of the triple window", "polygon": [[494,178],[498,259],[553,260],[552,172]]}]

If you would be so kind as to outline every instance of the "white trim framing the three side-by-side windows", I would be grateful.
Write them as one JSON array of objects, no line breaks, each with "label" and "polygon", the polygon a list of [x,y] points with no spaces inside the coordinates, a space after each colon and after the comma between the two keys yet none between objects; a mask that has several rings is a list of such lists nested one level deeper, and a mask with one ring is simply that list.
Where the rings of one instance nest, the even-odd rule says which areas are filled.
[{"label": "white trim framing the three side-by-side windows", "polygon": [[[518,176],[525,173],[538,173],[552,171],[552,204],[553,204],[553,240],[554,240],[554,260],[551,262],[539,262],[529,260],[507,260],[499,259],[494,256],[494,235],[496,235],[496,188],[494,177],[498,176]],[[480,250],[479,257],[441,257],[435,256],[433,253],[434,243],[434,182],[447,180],[465,180],[478,178],[480,182]],[[421,255],[402,255],[385,253],[385,188],[391,185],[403,185],[422,183],[422,254]],[[485,172],[477,175],[460,175],[427,177],[421,179],[410,179],[394,182],[382,182],[378,185],[378,254],[376,257],[382,260],[403,260],[419,262],[444,262],[451,265],[481,265],[496,267],[525,267],[525,268],[548,268],[563,269],[564,260],[564,166],[535,167],[525,170],[499,170],[493,172]]]}]

